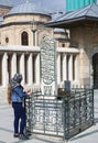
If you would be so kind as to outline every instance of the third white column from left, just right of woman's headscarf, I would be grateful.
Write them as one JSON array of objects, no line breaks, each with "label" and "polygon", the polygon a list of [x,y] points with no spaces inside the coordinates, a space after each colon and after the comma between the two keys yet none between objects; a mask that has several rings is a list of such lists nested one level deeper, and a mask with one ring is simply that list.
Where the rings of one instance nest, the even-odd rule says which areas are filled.
[{"label": "third white column from left, just right of woman's headscarf", "polygon": [[22,74],[23,76],[23,80],[22,80],[22,84],[24,85],[25,84],[25,67],[24,67],[24,53],[21,55],[20,57],[20,74]]}]

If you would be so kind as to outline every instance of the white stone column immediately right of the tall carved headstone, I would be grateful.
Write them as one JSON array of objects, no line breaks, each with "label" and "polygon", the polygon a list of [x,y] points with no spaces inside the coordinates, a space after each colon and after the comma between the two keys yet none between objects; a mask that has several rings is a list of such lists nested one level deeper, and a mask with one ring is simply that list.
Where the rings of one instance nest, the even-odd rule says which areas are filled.
[{"label": "white stone column immediately right of the tall carved headstone", "polygon": [[57,54],[57,84],[61,84],[61,53]]}]

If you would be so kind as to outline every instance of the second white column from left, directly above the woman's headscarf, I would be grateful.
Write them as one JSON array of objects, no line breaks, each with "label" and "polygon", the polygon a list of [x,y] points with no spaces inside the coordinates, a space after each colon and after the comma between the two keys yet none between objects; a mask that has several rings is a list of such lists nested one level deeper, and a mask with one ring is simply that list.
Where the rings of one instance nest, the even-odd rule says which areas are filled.
[{"label": "second white column from left, directly above the woman's headscarf", "polygon": [[17,54],[13,53],[11,61],[11,77],[13,77],[15,73],[17,73]]}]

